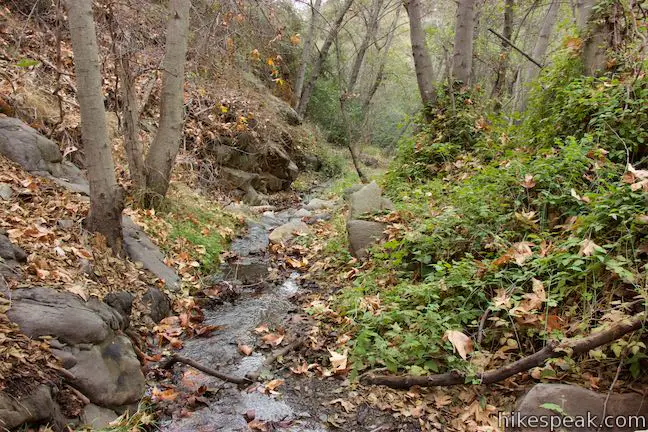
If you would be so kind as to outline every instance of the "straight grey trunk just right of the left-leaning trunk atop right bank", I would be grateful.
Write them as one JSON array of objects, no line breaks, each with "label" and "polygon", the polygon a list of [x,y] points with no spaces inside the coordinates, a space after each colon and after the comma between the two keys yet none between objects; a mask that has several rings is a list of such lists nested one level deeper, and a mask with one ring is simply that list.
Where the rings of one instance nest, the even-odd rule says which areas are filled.
[{"label": "straight grey trunk just right of the left-leaning trunk atop right bank", "polygon": [[457,4],[452,74],[464,84],[470,84],[472,71],[474,7],[475,0],[459,0]]}]

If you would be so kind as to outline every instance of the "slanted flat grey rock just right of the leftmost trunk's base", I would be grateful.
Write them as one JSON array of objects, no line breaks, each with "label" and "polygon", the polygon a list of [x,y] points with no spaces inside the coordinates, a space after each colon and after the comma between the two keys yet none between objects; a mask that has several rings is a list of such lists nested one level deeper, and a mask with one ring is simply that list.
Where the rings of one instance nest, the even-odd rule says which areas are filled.
[{"label": "slanted flat grey rock just right of the leftmost trunk's base", "polygon": [[124,246],[130,259],[141,263],[146,270],[163,280],[170,291],[178,291],[180,277],[164,263],[160,248],[126,215],[122,216],[122,227]]}]

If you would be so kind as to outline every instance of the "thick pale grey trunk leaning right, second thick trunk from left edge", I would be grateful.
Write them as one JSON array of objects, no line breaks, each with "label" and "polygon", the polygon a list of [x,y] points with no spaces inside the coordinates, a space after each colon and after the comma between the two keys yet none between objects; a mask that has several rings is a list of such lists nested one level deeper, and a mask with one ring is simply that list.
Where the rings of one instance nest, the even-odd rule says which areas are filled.
[{"label": "thick pale grey trunk leaning right, second thick trunk from left edge", "polygon": [[146,155],[144,205],[158,205],[169,188],[171,170],[180,148],[184,110],[184,67],[187,54],[189,0],[170,0],[166,52],[162,75],[160,127]]}]

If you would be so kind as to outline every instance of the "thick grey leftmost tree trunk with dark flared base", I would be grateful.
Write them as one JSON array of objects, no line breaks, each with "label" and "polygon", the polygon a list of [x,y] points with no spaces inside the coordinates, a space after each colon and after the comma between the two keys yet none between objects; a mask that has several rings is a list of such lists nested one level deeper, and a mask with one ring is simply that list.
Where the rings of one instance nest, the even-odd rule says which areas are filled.
[{"label": "thick grey leftmost tree trunk with dark flared base", "polygon": [[69,0],[66,6],[81,109],[81,134],[90,183],[90,212],[86,218],[86,227],[102,234],[113,251],[121,255],[124,194],[115,180],[112,148],[106,130],[101,62],[92,2]]}]

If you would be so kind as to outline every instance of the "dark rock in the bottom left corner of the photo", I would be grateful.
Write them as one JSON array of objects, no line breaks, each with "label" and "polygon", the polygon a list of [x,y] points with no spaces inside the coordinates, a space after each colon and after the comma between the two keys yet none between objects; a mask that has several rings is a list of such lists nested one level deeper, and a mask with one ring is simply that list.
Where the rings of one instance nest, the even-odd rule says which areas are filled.
[{"label": "dark rock in the bottom left corner of the photo", "polygon": [[65,418],[52,398],[52,390],[46,385],[36,387],[25,395],[0,392],[0,429],[12,430],[24,423],[52,423],[63,430]]}]

